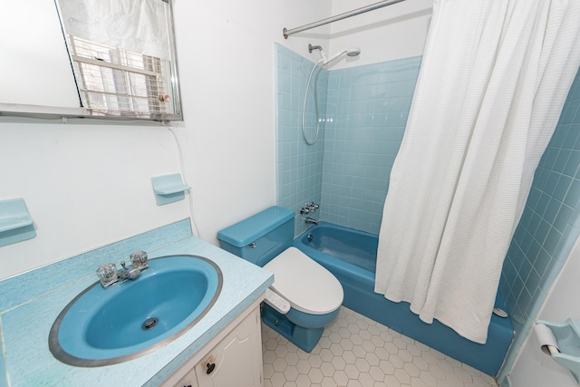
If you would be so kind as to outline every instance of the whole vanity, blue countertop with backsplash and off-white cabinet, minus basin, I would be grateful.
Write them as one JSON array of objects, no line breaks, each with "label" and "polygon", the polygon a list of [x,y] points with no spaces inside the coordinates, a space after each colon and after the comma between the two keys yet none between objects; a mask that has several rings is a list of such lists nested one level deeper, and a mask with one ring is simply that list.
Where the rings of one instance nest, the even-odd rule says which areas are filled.
[{"label": "whole vanity, blue countertop with backsplash and off-white cabinet, minus basin", "polygon": [[[48,337],[63,308],[97,281],[97,267],[139,249],[151,259],[208,258],[223,276],[215,304],[185,333],[132,360],[79,367],[54,358]],[[273,282],[266,270],[193,237],[189,219],[7,278],[0,281],[0,386],[260,386],[259,305]]]}]

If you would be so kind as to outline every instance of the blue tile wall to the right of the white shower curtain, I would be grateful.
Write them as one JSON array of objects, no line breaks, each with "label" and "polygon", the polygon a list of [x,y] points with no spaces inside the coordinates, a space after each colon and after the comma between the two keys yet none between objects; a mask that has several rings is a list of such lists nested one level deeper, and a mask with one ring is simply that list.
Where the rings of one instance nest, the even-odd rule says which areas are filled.
[{"label": "blue tile wall to the right of the white shower curtain", "polygon": [[580,236],[580,73],[540,160],[504,261],[499,290],[516,330],[511,364]]}]

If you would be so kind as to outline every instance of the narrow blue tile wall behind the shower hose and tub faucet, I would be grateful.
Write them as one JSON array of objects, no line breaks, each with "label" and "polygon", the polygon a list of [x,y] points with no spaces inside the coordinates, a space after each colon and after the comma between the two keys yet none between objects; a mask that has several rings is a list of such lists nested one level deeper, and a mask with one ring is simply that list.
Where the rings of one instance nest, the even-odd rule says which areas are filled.
[{"label": "narrow blue tile wall behind the shower hose and tub faucet", "polygon": [[[318,58],[313,56],[313,59]],[[295,211],[296,235],[307,228],[304,223],[306,216],[300,215],[300,208],[305,203],[320,203],[321,197],[328,83],[325,69],[320,70],[317,81],[321,119],[318,140],[308,145],[302,135],[304,91],[313,67],[313,62],[275,44],[276,204]],[[304,128],[306,136],[312,140],[316,127],[314,84],[309,90]]]}]

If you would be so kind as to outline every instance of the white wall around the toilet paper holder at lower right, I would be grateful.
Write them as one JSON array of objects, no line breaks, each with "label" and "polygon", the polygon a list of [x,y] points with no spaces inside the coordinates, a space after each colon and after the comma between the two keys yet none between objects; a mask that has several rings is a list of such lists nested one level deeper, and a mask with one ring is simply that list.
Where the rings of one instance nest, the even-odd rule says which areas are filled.
[{"label": "white wall around the toilet paper holder at lower right", "polygon": [[[554,322],[562,322],[568,317],[580,319],[580,305],[575,302],[577,295],[580,294],[578,273],[580,273],[580,244],[576,242],[537,319]],[[512,387],[578,385],[570,372],[540,351],[533,330],[527,337],[527,342],[519,353],[509,378]]]}]

